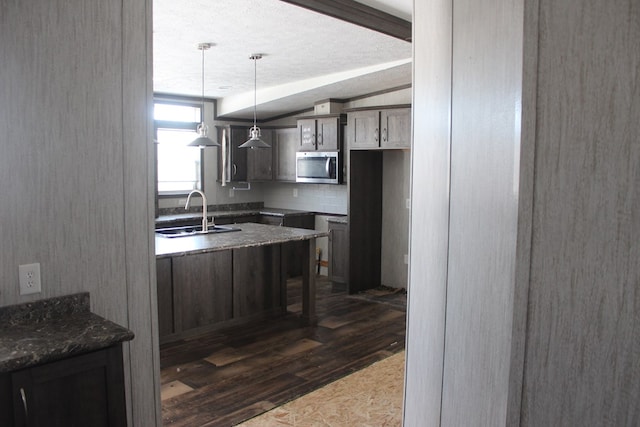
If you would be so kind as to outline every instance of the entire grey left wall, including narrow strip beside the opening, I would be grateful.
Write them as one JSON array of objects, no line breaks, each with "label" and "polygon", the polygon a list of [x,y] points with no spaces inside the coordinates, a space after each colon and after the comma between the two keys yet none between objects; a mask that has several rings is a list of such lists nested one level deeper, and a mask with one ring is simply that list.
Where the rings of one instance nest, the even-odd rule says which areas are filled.
[{"label": "entire grey left wall, including narrow strip beside the opening", "polygon": [[[0,7],[0,305],[87,291],[128,327],[131,425],[159,424],[151,2]],[[20,296],[18,265],[41,264]]]}]

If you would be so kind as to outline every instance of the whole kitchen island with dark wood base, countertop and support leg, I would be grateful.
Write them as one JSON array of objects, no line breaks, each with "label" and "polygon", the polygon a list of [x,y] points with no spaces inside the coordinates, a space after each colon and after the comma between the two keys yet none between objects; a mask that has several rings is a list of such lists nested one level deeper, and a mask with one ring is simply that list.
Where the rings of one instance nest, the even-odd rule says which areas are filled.
[{"label": "whole kitchen island with dark wood base, countertop and support leg", "polygon": [[257,223],[239,231],[168,238],[156,234],[160,341],[286,314],[287,257],[303,242],[302,321],[316,322],[315,239],[327,232]]}]

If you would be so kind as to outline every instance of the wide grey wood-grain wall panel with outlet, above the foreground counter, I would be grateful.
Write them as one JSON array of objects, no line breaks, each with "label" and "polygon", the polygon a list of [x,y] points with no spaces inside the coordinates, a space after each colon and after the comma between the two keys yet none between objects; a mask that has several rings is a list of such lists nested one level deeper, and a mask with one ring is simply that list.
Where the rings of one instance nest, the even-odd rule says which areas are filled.
[{"label": "wide grey wood-grain wall panel with outlet, above the foreground counter", "polygon": [[[126,298],[121,3],[2,12],[1,302],[90,291],[94,311],[126,323],[126,304],[112,301]],[[42,293],[21,297],[17,268],[29,262],[41,264]]]}]

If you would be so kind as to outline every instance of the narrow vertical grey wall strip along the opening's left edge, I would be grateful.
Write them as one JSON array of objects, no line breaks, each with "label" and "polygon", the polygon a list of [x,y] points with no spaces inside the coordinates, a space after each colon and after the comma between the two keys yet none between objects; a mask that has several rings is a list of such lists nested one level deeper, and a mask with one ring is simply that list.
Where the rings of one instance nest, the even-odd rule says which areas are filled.
[{"label": "narrow vertical grey wall strip along the opening's left edge", "polygon": [[[152,1],[122,1],[124,229],[132,425],[160,425],[160,351],[154,244]],[[116,190],[116,189],[114,189]]]}]

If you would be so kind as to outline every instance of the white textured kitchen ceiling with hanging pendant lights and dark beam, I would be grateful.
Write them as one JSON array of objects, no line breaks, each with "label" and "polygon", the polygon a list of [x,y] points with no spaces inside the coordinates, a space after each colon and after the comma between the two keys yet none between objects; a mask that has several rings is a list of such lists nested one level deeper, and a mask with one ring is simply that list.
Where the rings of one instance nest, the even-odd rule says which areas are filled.
[{"label": "white textured kitchen ceiling with hanging pendant lights and dark beam", "polygon": [[[359,0],[410,20],[413,0]],[[411,83],[411,44],[280,0],[154,0],[153,89],[205,97],[218,115],[259,119]]]}]

